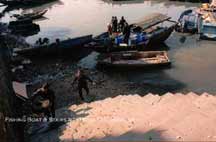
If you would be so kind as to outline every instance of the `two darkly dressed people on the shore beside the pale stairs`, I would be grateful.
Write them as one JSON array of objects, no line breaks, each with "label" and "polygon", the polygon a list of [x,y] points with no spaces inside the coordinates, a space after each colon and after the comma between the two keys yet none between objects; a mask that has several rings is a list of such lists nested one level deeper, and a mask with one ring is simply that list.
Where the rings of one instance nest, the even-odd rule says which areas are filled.
[{"label": "two darkly dressed people on the shore beside the pale stairs", "polygon": [[[86,91],[86,95],[89,94],[88,81],[95,85],[95,82],[84,73],[84,70],[79,68],[71,85],[74,86],[77,82],[79,96],[82,101],[85,101],[83,89]],[[34,114],[42,114],[44,117],[55,117],[56,97],[54,91],[51,90],[49,86],[48,83],[45,83],[41,88],[37,89],[30,98],[32,102],[32,112]]]}]

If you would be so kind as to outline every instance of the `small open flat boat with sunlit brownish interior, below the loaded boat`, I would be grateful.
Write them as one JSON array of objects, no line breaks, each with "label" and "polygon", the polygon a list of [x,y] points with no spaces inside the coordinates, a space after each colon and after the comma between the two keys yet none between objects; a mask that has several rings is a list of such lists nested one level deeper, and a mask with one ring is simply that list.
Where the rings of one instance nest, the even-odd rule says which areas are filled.
[{"label": "small open flat boat with sunlit brownish interior, below the loaded boat", "polygon": [[153,68],[171,64],[166,51],[122,51],[110,53],[98,61],[98,67]]}]

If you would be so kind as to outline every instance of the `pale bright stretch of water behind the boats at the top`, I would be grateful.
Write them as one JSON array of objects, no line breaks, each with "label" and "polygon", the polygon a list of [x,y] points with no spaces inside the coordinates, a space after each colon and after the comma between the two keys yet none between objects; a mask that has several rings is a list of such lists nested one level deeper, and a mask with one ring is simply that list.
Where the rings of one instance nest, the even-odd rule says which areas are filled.
[{"label": "pale bright stretch of water behind the boats at the top", "polygon": [[[37,21],[41,32],[37,36],[29,37],[29,42],[35,42],[39,37],[64,39],[86,34],[99,34],[106,30],[111,16],[125,16],[129,23],[137,22],[143,16],[152,12],[167,14],[177,19],[186,7],[194,7],[197,4],[169,2],[168,0],[135,0],[127,2],[112,2],[110,0],[61,0],[61,2],[45,4],[27,10],[49,9],[45,14],[47,20]],[[22,10],[10,11],[5,19],[9,19],[12,13],[21,13]],[[50,29],[54,31],[49,32]],[[57,32],[63,29],[63,32]],[[65,32],[67,30],[67,32]]]}]

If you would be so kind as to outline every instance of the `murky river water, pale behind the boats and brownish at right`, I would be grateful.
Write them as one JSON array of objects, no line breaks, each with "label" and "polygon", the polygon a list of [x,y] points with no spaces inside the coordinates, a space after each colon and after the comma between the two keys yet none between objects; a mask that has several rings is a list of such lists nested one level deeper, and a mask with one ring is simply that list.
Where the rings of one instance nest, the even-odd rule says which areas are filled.
[{"label": "murky river water, pale behind the boats and brownish at right", "polygon": [[[37,21],[40,33],[28,37],[35,42],[38,37],[52,39],[75,37],[86,34],[99,34],[106,30],[111,16],[125,16],[129,23],[136,22],[152,12],[161,12],[177,20],[180,13],[188,8],[199,6],[193,3],[169,2],[167,0],[135,0],[130,2],[111,2],[109,0],[62,0],[28,10],[49,9],[47,19]],[[1,8],[2,9],[2,8]],[[6,14],[7,21],[11,14],[21,13],[14,10]],[[184,39],[184,40],[182,40]],[[184,41],[184,42],[183,42]],[[116,81],[139,82],[166,88],[167,91],[216,92],[216,42],[199,41],[198,36],[185,36],[173,33],[166,41],[172,68],[163,71],[142,71],[116,73]],[[94,65],[95,55],[82,63]]]}]

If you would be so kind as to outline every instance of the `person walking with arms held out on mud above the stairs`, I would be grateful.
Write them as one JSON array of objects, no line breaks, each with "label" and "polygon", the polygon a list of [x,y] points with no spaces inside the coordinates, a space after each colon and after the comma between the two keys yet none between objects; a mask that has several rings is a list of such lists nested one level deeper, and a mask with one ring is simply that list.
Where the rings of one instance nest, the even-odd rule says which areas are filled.
[{"label": "person walking with arms held out on mud above the stairs", "polygon": [[84,101],[82,89],[84,89],[86,91],[86,94],[88,95],[89,94],[88,81],[90,81],[93,84],[95,83],[87,75],[85,75],[84,71],[81,68],[77,70],[72,85],[74,85],[76,81],[78,82],[79,96],[82,99],[82,101]]}]

